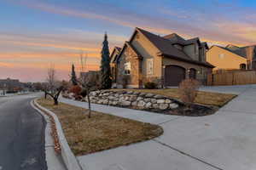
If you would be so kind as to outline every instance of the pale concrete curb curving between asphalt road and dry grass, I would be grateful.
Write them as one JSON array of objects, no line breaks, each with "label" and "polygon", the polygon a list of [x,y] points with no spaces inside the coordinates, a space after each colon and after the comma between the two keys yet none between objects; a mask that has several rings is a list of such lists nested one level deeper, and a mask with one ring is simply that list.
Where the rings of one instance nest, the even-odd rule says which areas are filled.
[{"label": "pale concrete curb curving between asphalt road and dry grass", "polygon": [[72,150],[70,149],[69,145],[67,144],[67,139],[63,133],[61,122],[59,121],[58,117],[55,116],[55,113],[49,111],[48,109],[38,105],[37,99],[34,99],[34,105],[38,107],[38,109],[49,113],[50,116],[54,118],[56,131],[58,133],[58,139],[61,145],[61,157],[64,161],[68,170],[82,170],[82,167],[79,165],[79,161],[73,155]]}]

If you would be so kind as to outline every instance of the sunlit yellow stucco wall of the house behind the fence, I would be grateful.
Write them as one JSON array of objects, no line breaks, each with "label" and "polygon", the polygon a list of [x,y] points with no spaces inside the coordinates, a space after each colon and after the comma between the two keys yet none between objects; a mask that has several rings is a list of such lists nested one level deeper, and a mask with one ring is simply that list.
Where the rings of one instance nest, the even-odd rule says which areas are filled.
[{"label": "sunlit yellow stucco wall of the house behind the fence", "polygon": [[218,69],[240,69],[241,64],[247,64],[247,59],[233,54],[223,48],[213,46],[207,51],[207,62],[216,66],[213,70]]}]

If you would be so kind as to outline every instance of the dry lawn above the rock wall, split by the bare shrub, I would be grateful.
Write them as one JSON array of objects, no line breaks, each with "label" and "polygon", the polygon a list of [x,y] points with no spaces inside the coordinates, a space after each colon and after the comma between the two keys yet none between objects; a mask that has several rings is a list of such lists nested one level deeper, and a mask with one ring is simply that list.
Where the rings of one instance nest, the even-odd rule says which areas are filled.
[{"label": "dry lawn above the rock wall, split by the bare shrub", "polygon": [[[160,94],[166,97],[171,97],[174,99],[180,99],[177,88],[165,88],[165,89],[113,89],[113,90],[132,90],[143,93]],[[234,99],[236,94],[218,94],[212,92],[202,92],[199,91],[197,97],[195,98],[195,103],[201,105],[214,105],[221,107]]]}]

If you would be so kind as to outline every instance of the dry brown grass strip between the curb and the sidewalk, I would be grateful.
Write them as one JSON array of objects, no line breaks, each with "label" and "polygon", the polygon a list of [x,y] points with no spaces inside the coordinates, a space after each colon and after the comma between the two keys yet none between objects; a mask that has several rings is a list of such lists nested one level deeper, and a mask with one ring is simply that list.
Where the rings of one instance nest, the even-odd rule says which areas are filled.
[{"label": "dry brown grass strip between the curb and the sidewalk", "polygon": [[76,156],[153,139],[163,133],[157,125],[96,111],[88,118],[87,110],[63,103],[53,105],[51,99],[38,99],[38,104],[58,116],[67,142]]}]

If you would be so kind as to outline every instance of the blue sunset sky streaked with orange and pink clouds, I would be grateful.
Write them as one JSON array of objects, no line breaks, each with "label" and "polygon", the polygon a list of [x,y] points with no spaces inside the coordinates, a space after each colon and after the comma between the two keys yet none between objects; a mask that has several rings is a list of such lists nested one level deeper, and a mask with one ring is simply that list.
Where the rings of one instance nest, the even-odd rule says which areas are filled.
[{"label": "blue sunset sky streaked with orange and pink clouds", "polygon": [[[79,67],[96,70],[104,32],[110,50],[122,47],[134,28],[159,35],[201,37],[209,44],[256,44],[253,0],[0,0],[0,78],[44,81],[55,65],[67,79]],[[79,69],[77,69],[79,72]]]}]

